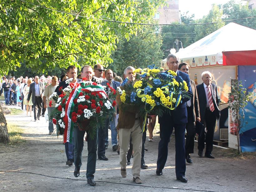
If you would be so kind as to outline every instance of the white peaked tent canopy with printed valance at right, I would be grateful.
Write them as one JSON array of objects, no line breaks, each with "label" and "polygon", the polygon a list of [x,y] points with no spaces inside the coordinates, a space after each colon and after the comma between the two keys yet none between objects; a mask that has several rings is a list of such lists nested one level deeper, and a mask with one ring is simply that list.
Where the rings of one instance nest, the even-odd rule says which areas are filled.
[{"label": "white peaked tent canopy with printed valance at right", "polygon": [[[256,30],[229,23],[177,52],[191,67],[222,64],[223,51],[256,50]],[[166,59],[164,59],[166,62]],[[162,62],[164,62],[164,60]]]}]

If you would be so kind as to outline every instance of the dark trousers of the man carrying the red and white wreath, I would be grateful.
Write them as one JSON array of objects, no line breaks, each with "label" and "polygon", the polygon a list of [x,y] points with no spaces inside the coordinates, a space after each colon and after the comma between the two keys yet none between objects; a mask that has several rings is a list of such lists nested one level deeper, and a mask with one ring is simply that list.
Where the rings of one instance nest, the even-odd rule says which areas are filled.
[{"label": "dark trousers of the man carrying the red and white wreath", "polygon": [[[73,130],[73,134],[74,163],[75,167],[80,168],[82,166],[82,151],[84,148],[85,131],[79,130],[79,128],[75,127]],[[90,138],[90,136],[87,135],[87,150],[88,158],[86,177],[87,179],[93,179],[96,170],[97,135],[94,137],[94,139]]]}]

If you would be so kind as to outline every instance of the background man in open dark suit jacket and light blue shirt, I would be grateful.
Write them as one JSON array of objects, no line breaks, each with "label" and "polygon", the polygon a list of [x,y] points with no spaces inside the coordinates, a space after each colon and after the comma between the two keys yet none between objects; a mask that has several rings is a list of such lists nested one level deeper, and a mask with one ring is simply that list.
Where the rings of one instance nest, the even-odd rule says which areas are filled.
[{"label": "background man in open dark suit jacket and light blue shirt", "polygon": [[[35,82],[30,84],[30,89],[27,95],[27,102],[29,102],[32,96],[32,103],[34,108],[34,119],[35,121],[40,119],[42,110],[42,97],[45,93],[45,85],[39,82],[39,76],[35,76]],[[38,112],[37,112],[38,108]]]}]

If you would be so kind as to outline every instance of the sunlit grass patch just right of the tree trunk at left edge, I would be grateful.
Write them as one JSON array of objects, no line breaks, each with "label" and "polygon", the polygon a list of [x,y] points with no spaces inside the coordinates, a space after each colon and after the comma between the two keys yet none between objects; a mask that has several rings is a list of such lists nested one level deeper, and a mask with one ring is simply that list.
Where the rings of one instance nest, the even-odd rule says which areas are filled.
[{"label": "sunlit grass patch just right of the tree trunk at left edge", "polygon": [[18,144],[25,142],[24,139],[22,139],[22,133],[23,129],[18,127],[16,124],[8,123],[7,124],[8,133],[10,136],[10,143],[9,144]]}]

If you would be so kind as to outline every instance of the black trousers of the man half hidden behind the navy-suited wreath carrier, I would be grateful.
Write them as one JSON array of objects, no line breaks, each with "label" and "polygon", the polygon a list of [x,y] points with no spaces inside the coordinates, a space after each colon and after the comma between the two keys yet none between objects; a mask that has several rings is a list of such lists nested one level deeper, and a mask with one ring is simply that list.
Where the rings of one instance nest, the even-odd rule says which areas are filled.
[{"label": "black trousers of the man half hidden behind the navy-suited wreath carrier", "polygon": [[186,143],[185,150],[186,154],[194,153],[195,134],[196,134],[196,123],[193,118],[193,107],[187,107],[188,111],[188,123],[186,123]]}]

